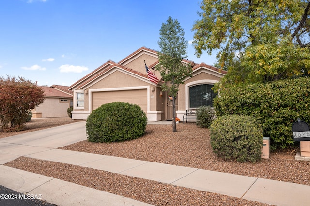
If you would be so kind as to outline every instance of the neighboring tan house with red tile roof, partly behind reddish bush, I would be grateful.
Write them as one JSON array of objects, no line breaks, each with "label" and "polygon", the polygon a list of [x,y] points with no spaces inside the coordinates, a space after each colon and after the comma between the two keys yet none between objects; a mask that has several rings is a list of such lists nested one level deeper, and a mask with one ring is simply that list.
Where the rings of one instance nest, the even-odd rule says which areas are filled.
[{"label": "neighboring tan house with red tile roof, partly behind reddish bush", "polygon": [[67,86],[39,86],[44,91],[44,103],[32,110],[32,118],[68,117],[67,110],[73,107],[72,91]]}]

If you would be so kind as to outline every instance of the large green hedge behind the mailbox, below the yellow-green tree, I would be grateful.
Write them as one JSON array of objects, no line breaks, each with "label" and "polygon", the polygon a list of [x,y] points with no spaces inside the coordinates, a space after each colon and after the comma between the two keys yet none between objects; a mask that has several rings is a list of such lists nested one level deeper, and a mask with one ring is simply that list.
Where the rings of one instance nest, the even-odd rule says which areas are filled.
[{"label": "large green hedge behind the mailbox, below the yellow-green tree", "polygon": [[271,149],[292,145],[292,123],[300,118],[310,122],[310,82],[307,77],[233,86],[220,90],[214,100],[217,117],[251,115],[262,122],[263,135],[270,137]]}]

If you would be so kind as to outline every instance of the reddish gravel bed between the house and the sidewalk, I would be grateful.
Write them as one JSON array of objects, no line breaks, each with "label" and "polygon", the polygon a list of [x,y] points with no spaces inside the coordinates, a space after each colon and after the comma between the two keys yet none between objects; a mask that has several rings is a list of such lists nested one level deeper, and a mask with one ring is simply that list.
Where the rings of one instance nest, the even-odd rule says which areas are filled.
[{"label": "reddish gravel bed between the house and the sidewalk", "polygon": [[179,124],[177,130],[172,132],[171,125],[147,125],[145,135],[132,141],[92,143],[85,140],[61,149],[310,185],[310,162],[295,160],[297,149],[272,152],[269,159],[255,163],[225,161],[213,153],[208,129],[188,123]]}]

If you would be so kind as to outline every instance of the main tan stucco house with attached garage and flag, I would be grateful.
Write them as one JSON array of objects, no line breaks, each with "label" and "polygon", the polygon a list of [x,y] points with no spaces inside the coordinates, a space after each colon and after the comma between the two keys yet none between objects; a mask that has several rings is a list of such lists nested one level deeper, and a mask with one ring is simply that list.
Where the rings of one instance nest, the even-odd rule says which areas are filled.
[{"label": "main tan stucco house with attached garage and flag", "polygon": [[[71,85],[72,119],[87,119],[102,104],[120,101],[140,105],[149,121],[171,120],[172,101],[167,92],[161,90],[162,82],[155,84],[149,80],[144,61],[160,79],[159,72],[154,70],[158,64],[157,52],[142,47],[118,63],[107,61]],[[226,74],[226,71],[205,63],[183,61],[192,66],[193,73],[180,85],[176,98],[176,115],[181,120],[187,109],[212,106],[215,94],[211,88]]]}]

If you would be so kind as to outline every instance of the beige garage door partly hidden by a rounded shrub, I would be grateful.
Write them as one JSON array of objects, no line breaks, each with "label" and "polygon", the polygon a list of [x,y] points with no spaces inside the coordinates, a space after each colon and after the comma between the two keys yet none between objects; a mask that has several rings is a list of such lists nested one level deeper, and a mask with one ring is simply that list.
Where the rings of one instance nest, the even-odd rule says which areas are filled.
[{"label": "beige garage door partly hidden by a rounded shrub", "polygon": [[93,92],[93,110],[111,102],[138,104],[144,112],[147,112],[147,89]]}]

